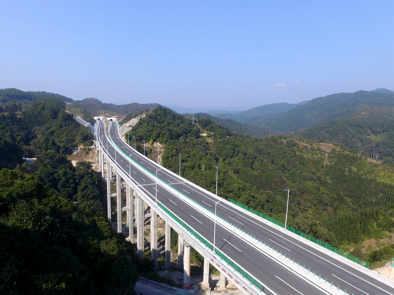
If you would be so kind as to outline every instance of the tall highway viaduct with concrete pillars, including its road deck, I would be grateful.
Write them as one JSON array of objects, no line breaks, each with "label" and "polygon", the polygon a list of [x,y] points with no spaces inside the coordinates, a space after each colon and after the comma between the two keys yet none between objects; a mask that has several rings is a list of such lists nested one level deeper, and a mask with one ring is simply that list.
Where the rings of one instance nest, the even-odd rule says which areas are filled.
[{"label": "tall highway viaduct with concrete pillars, including its road deck", "polygon": [[[106,127],[99,121],[97,141],[102,177],[107,179],[108,219],[112,219],[108,180],[114,169],[116,193],[112,195],[117,199],[118,232],[122,232],[121,212],[127,211],[130,237],[133,236],[135,211],[137,253],[142,257],[145,202],[151,210],[150,244],[156,264],[157,216],[165,221],[166,268],[170,266],[167,238],[170,229],[179,235],[178,255],[179,263],[183,257],[185,289],[190,287],[193,247],[204,257],[204,284],[208,283],[211,264],[221,273],[221,287],[228,280],[248,295],[394,295],[393,281],[276,226],[144,157],[120,137],[115,122],[109,122]],[[127,184],[126,207],[121,205],[122,179]]]}]

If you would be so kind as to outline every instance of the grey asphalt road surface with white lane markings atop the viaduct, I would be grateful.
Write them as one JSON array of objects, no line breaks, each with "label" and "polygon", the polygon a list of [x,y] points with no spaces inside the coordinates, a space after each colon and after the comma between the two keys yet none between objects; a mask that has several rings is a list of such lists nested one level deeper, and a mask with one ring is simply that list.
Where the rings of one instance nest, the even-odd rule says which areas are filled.
[{"label": "grey asphalt road surface with white lane markings atop the viaduct", "polygon": [[[114,123],[110,124],[108,135],[117,148],[147,171],[150,171],[153,175],[157,173],[158,177],[173,188],[183,192],[199,204],[204,205],[204,207],[212,211],[215,210],[215,203],[221,200],[220,197],[216,197],[205,189],[186,182],[184,178],[176,176],[128,146],[120,138]],[[141,172],[134,166],[135,164],[129,161],[129,157],[125,157],[107,141],[102,121],[99,121],[98,136],[99,141],[102,142],[103,149],[115,159],[118,168],[122,169],[134,183],[137,183],[145,191],[146,195],[153,200],[157,196],[159,202],[213,244],[214,221],[207,216],[207,211],[191,206],[183,198],[172,194],[160,184],[157,185],[156,191],[155,178]],[[340,290],[346,290],[346,294],[394,295],[394,288],[384,284],[382,281],[345,265],[314,247],[300,243],[292,236],[287,236],[275,227],[263,223],[258,218],[245,215],[241,208],[237,209],[228,206],[225,202],[219,202],[216,211],[218,215],[223,216],[225,220],[228,220],[237,228],[242,229],[244,232],[252,233],[256,239],[265,243],[266,246],[269,244],[270,248],[273,248],[272,251],[281,252],[283,255],[286,254],[287,257],[290,256],[292,261],[294,260],[296,264],[299,263],[299,267],[310,269],[312,273],[315,272],[317,276],[320,275],[322,280],[327,280],[329,284],[332,282],[332,285],[335,287],[339,285]],[[259,247],[245,241],[242,235],[236,235],[218,223],[216,223],[215,246],[236,264],[260,280],[275,294],[326,294],[302,279],[299,275],[273,261]],[[269,291],[264,292],[270,294]]]}]

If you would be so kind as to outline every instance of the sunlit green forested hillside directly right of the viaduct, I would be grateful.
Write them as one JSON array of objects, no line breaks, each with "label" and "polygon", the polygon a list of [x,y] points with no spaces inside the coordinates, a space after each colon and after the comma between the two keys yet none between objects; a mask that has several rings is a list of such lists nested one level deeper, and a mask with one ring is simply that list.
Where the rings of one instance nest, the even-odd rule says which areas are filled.
[{"label": "sunlit green forested hillside directly right of the viaduct", "polygon": [[[173,172],[178,171],[180,153],[182,176],[211,192],[216,180],[213,166],[218,166],[218,195],[282,222],[284,189],[290,188],[290,226],[354,251],[372,266],[378,248],[364,249],[363,241],[394,231],[394,168],[344,148],[285,135],[253,138],[209,118],[198,118],[193,125],[163,107],[141,119],[131,135],[137,142],[164,144],[162,162]],[[142,151],[141,146],[137,149]]]}]

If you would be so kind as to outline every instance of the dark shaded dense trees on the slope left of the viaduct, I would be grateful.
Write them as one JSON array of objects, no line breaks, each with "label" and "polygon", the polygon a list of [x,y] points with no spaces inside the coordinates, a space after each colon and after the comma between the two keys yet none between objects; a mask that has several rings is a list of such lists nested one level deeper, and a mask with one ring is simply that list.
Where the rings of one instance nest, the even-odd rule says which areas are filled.
[{"label": "dark shaded dense trees on the slope left of the viaduct", "polygon": [[1,165],[16,165],[0,170],[0,293],[133,294],[152,262],[111,228],[91,164],[66,158],[92,144],[90,130],[60,98],[10,106],[0,115]]}]

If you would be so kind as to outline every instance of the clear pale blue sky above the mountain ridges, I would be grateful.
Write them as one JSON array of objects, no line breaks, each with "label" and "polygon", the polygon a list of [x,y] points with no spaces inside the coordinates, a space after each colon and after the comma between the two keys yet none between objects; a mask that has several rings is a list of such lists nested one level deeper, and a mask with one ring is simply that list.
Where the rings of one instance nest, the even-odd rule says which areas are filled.
[{"label": "clear pale blue sky above the mountain ridges", "polygon": [[394,90],[394,1],[2,1],[0,88],[246,109]]}]

